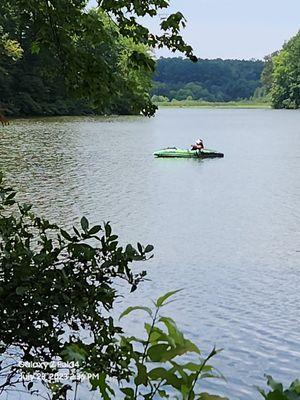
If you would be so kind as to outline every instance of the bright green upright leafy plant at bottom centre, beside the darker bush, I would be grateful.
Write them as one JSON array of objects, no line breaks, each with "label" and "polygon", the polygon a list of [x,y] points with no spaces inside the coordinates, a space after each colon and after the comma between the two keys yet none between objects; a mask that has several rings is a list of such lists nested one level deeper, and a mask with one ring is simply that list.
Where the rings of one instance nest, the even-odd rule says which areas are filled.
[{"label": "bright green upright leafy plant at bottom centre, beside the darker bush", "polygon": [[[134,336],[122,338],[121,343],[132,349],[133,378],[128,386],[121,387],[126,400],[219,398],[199,392],[199,383],[202,379],[221,377],[208,364],[218,351],[213,348],[206,358],[201,358],[199,348],[185,338],[175,321],[161,315],[161,309],[173,301],[171,298],[178,292],[175,290],[161,296],[152,309],[144,306],[129,307],[120,316],[123,318],[139,310],[145,312],[149,318],[149,322],[145,323],[144,338]],[[188,353],[194,354],[194,359],[187,361]]]}]

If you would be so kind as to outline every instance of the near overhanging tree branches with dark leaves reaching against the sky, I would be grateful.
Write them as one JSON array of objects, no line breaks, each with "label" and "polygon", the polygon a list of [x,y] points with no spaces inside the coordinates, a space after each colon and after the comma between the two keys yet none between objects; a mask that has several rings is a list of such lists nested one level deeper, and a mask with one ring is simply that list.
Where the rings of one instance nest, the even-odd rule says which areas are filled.
[{"label": "near overhanging tree branches with dark leaves reaching against the sky", "polygon": [[[79,99],[88,98],[98,109],[104,109],[104,103],[109,103],[120,88],[120,81],[114,73],[114,54],[110,62],[107,59],[108,50],[118,35],[150,48],[167,46],[196,61],[192,48],[179,34],[180,28],[185,26],[180,12],[161,22],[159,35],[152,34],[138,22],[138,17],[158,15],[169,6],[168,1],[99,0],[97,12],[87,11],[86,5],[86,0],[3,0],[0,26],[13,40],[18,40],[22,48],[35,55],[44,56],[45,51],[50,54],[48,70],[52,67],[52,72],[48,75],[59,69],[68,93]],[[130,53],[130,62],[147,70],[148,74],[152,73],[154,62],[140,49]],[[131,76],[132,82],[136,79]],[[125,86],[128,88],[130,84]],[[144,92],[147,88],[146,85]],[[144,100],[143,104],[138,102],[140,107],[135,107],[135,112],[138,109],[152,115],[155,107],[151,105],[149,96]]]}]

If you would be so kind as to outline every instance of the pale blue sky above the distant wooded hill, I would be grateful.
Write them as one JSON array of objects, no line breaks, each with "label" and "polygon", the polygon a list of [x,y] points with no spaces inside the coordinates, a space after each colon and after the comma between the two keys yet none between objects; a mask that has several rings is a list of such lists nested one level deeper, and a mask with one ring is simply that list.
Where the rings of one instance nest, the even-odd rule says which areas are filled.
[{"label": "pale blue sky above the distant wooded hill", "polygon": [[[95,0],[91,1],[91,4]],[[262,59],[300,29],[300,0],[170,0],[168,14],[181,11],[182,32],[200,58]],[[144,23],[154,33],[160,17]],[[174,56],[167,49],[156,56]],[[176,54],[180,55],[180,54]]]}]

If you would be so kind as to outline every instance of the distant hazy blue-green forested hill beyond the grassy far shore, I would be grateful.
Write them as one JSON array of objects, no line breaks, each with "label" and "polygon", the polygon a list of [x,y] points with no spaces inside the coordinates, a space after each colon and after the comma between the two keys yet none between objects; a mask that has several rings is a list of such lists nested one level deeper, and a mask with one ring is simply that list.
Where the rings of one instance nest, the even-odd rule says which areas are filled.
[{"label": "distant hazy blue-green forested hill beyond the grassy far shore", "polygon": [[[152,94],[154,100],[234,101],[260,95],[263,61],[199,60],[183,58],[157,60]],[[163,96],[163,97],[158,97]]]}]

